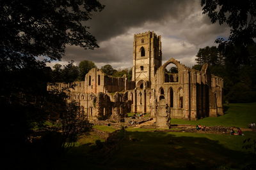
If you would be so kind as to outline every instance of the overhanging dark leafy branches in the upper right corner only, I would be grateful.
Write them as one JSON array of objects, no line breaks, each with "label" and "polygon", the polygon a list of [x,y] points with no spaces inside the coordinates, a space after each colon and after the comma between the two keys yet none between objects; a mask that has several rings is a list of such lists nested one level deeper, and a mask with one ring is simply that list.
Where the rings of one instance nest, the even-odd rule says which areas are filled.
[{"label": "overhanging dark leafy branches in the upper right corner only", "polygon": [[255,46],[256,1],[201,0],[201,6],[212,23],[218,21],[220,25],[227,24],[230,27],[227,40],[216,39],[227,60],[232,64],[248,64],[253,57],[248,48]]}]

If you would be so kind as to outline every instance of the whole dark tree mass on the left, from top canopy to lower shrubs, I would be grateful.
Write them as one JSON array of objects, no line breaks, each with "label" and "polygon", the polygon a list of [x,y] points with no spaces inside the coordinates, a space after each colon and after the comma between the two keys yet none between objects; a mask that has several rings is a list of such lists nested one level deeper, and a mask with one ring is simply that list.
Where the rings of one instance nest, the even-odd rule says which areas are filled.
[{"label": "whole dark tree mass on the left, from top canopy to lower shrubs", "polygon": [[[97,0],[0,2],[1,129],[4,147],[16,148],[6,149],[6,157],[23,153],[20,145],[26,143],[34,125],[48,118],[46,85],[56,80],[45,62],[60,60],[66,45],[97,48],[84,21],[103,8]],[[71,65],[66,67],[74,69]]]}]

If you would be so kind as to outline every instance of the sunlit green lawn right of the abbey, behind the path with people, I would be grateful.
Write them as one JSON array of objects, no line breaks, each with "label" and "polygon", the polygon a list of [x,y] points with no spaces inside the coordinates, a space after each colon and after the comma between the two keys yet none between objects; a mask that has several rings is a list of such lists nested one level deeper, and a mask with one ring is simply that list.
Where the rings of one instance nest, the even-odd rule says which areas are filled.
[{"label": "sunlit green lawn right of the abbey, behind the path with people", "polygon": [[220,117],[208,117],[200,120],[172,118],[171,124],[248,127],[248,124],[256,122],[256,103],[236,103],[228,104],[227,106],[229,107],[227,113]]}]

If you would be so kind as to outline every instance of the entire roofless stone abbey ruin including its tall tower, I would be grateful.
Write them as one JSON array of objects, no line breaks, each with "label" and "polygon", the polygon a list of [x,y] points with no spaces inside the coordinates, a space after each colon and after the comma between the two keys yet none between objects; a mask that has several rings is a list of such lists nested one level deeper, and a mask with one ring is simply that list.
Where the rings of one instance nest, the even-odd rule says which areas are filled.
[{"label": "entire roofless stone abbey ruin including its tall tower", "polygon": [[[166,71],[175,64],[177,73]],[[93,68],[84,81],[67,91],[68,101],[77,101],[88,120],[120,121],[127,113],[149,113],[157,127],[168,127],[170,118],[195,120],[223,115],[223,79],[169,59],[162,65],[161,36],[154,32],[134,35],[132,80],[106,76]],[[58,88],[68,84],[58,83]],[[51,89],[51,85],[48,85]]]}]

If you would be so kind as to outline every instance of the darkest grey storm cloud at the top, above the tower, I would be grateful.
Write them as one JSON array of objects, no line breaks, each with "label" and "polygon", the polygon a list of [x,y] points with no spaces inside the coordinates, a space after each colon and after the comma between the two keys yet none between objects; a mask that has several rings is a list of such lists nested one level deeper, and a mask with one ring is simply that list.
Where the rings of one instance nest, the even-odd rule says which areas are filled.
[{"label": "darkest grey storm cloud at the top, above the tower", "polygon": [[145,22],[164,22],[166,17],[182,20],[193,10],[195,1],[188,0],[106,0],[106,8],[96,13],[88,23],[99,41],[123,34],[130,27],[140,27]]}]

